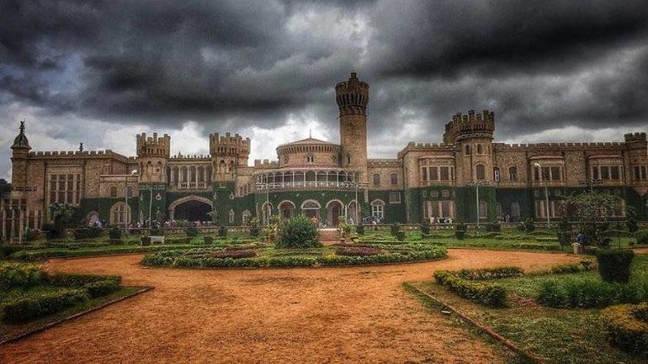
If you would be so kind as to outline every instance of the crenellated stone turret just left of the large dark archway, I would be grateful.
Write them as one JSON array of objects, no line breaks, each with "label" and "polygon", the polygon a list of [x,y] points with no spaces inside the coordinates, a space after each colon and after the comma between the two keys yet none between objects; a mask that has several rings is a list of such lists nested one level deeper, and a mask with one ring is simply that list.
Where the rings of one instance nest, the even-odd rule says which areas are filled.
[{"label": "crenellated stone turret just left of the large dark archway", "polygon": [[143,183],[167,182],[167,160],[171,150],[171,137],[147,137],[146,133],[137,134],[137,159],[139,161],[139,181]]}]

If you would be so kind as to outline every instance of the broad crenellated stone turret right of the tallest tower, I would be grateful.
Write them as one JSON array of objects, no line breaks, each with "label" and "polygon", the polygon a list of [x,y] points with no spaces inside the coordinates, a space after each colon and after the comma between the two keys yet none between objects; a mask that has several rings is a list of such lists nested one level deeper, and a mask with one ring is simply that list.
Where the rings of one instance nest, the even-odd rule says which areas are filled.
[{"label": "broad crenellated stone turret right of the tallest tower", "polygon": [[[468,115],[457,113],[445,126],[443,142],[457,146],[457,175],[459,183],[493,180],[492,139],[495,131],[495,113],[483,110]],[[458,156],[461,156],[460,158]]]}]

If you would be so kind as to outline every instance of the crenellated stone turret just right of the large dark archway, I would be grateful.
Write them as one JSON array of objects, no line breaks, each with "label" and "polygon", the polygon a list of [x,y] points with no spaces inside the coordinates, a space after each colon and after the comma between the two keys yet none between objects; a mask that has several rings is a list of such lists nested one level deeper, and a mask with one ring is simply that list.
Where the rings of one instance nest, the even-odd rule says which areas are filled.
[{"label": "crenellated stone turret just right of the large dark archway", "polygon": [[248,166],[249,138],[238,134],[209,134],[209,154],[211,154],[212,181],[233,181],[237,168]]}]

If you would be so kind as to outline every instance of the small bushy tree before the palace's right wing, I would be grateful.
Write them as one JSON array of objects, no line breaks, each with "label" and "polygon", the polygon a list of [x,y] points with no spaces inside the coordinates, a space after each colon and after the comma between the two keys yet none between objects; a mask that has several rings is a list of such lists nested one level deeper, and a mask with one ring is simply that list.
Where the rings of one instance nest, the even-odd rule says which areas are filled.
[{"label": "small bushy tree before the palace's right wing", "polygon": [[611,194],[590,192],[568,196],[561,206],[561,215],[577,226],[579,233],[586,234],[588,241],[605,244],[605,230],[614,212],[619,210],[619,198]]}]

